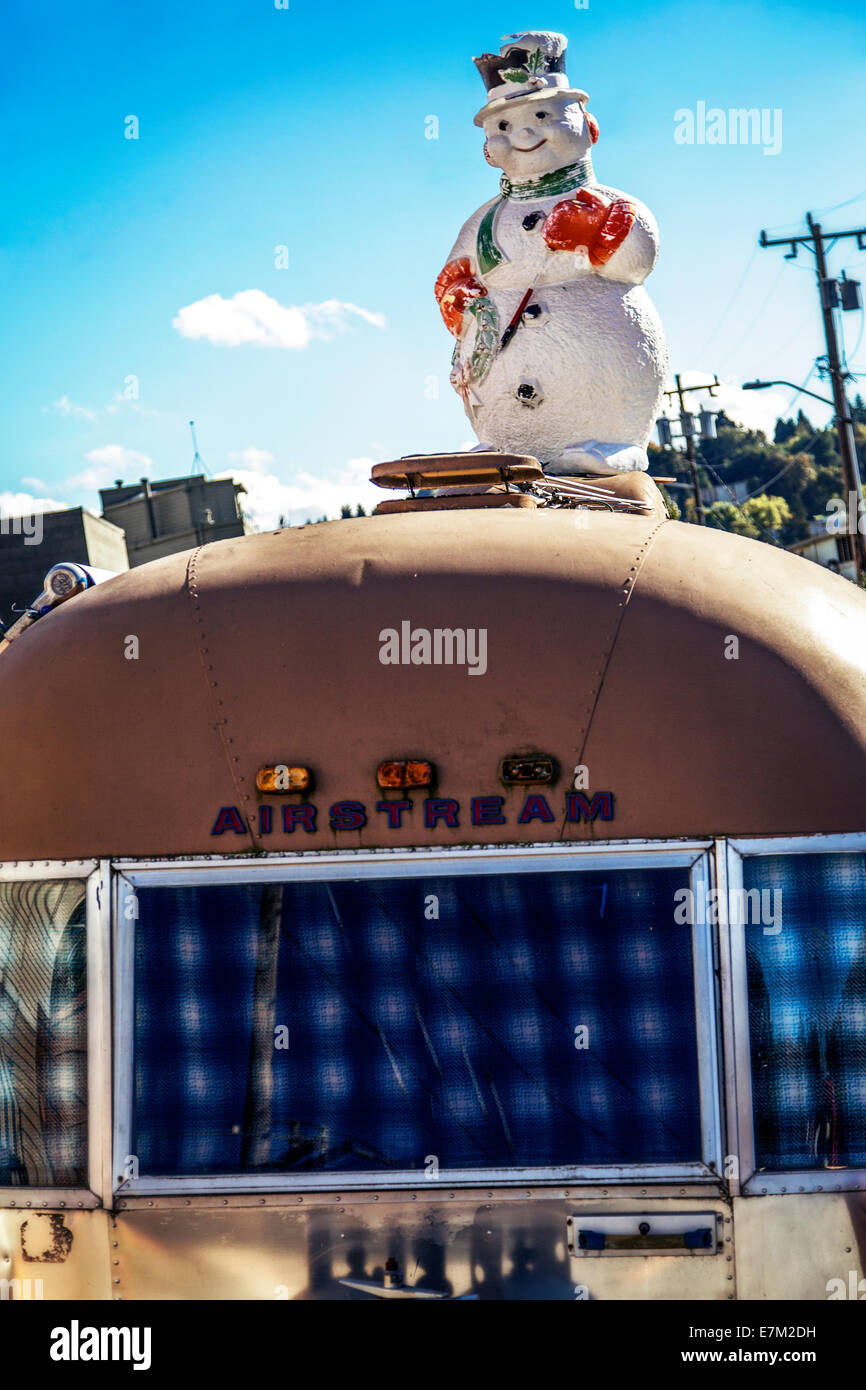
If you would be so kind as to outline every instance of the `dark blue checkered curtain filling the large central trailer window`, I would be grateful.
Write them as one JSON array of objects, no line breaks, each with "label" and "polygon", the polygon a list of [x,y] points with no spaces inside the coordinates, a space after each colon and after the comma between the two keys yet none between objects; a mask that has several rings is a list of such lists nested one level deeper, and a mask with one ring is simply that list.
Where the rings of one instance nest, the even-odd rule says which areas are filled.
[{"label": "dark blue checkered curtain filling the large central trailer window", "polygon": [[687,883],[140,890],[140,1173],[699,1161]]}]

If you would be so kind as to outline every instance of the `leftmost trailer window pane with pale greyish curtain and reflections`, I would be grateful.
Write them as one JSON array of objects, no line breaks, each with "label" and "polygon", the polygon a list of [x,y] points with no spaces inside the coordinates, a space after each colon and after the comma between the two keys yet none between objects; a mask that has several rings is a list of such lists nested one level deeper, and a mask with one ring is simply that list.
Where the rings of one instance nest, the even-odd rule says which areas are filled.
[{"label": "leftmost trailer window pane with pale greyish curtain and reflections", "polygon": [[85,885],[0,884],[0,1186],[88,1169]]}]

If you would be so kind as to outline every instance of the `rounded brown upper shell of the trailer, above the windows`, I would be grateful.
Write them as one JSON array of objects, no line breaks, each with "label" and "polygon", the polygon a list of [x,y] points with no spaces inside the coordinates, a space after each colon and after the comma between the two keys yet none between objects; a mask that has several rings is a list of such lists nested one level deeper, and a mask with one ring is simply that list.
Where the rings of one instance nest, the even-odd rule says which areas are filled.
[{"label": "rounded brown upper shell of the trailer, above the windows", "polygon": [[[381,634],[487,632],[487,670],[384,664]],[[136,644],[138,657],[131,657]],[[735,639],[735,641],[734,641]],[[735,653],[735,655],[734,655]],[[740,537],[632,516],[496,509],[222,541],[72,598],[0,656],[0,856],[181,855],[712,834],[866,824],[866,595]],[[505,788],[503,756],[549,785]],[[402,827],[375,769],[430,759]],[[302,763],[300,796],[256,771]],[[564,820],[574,767],[610,823]],[[528,794],[544,794],[518,823]],[[391,794],[393,795],[393,794]],[[475,796],[503,823],[474,827]],[[423,801],[459,802],[424,824]],[[338,801],[366,808],[332,830]],[[259,806],[277,808],[259,834]],[[221,808],[245,833],[213,834]]]}]

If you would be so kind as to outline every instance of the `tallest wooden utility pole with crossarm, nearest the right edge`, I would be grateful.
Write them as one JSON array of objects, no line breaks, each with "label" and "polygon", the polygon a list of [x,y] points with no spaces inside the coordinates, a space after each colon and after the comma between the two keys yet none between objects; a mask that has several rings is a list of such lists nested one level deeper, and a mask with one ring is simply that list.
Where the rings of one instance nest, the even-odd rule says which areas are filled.
[{"label": "tallest wooden utility pole with crossarm, nearest the right edge", "polygon": [[859,249],[866,250],[866,227],[851,228],[845,232],[824,232],[822,224],[816,222],[812,217],[812,213],[806,213],[806,225],[809,227],[808,236],[780,236],[770,240],[767,234],[762,232],[759,245],[790,246],[791,250],[785,256],[785,260],[794,260],[798,246],[808,246],[809,250],[815,253],[817,288],[822,299],[822,318],[824,320],[824,339],[827,342],[827,374],[830,375],[830,381],[833,384],[833,406],[835,409],[834,424],[840,446],[840,457],[842,460],[842,478],[848,498],[853,498],[855,500],[853,510],[856,512],[856,521],[853,523],[853,530],[851,530],[851,506],[847,506],[845,513],[848,516],[848,531],[851,535],[851,548],[853,552],[858,581],[860,581],[866,574],[866,537],[860,528],[862,524],[866,525],[866,521],[863,521],[863,517],[866,516],[863,512],[863,485],[860,482],[860,468],[858,464],[856,442],[853,436],[853,420],[851,418],[851,407],[845,395],[847,374],[844,373],[840,360],[833,310],[837,309],[840,303],[842,309],[859,309],[862,304],[859,303],[859,285],[855,281],[847,281],[842,275],[840,286],[838,279],[833,279],[827,275],[824,242],[828,242],[830,246],[833,246],[835,242],[842,240],[847,236],[856,236]]}]

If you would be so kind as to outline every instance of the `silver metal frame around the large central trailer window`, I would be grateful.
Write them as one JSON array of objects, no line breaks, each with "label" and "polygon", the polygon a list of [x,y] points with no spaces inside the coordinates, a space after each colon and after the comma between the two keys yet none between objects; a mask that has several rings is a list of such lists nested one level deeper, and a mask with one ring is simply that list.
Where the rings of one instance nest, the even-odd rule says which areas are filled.
[{"label": "silver metal frame around the large central trailer window", "polygon": [[[136,888],[189,887],[234,883],[288,883],[341,878],[381,878],[498,873],[564,872],[569,866],[594,869],[688,869],[689,885],[699,892],[712,884],[712,841],[620,841],[581,845],[493,845],[445,849],[374,849],[334,853],[313,851],[296,855],[267,855],[256,859],[202,856],[188,860],[115,862],[114,903],[114,1165],[115,1193],[122,1197],[350,1191],[418,1187],[424,1172],[398,1173],[296,1173],[218,1176],[147,1176],[121,1180],[131,1155],[133,1108],[133,944],[135,917],[126,922],[126,902]],[[671,906],[673,920],[673,906]],[[473,1168],[442,1170],[439,1183],[448,1187],[527,1183],[573,1186],[599,1183],[713,1183],[720,1180],[723,1161],[723,1118],[720,1084],[720,1001],[716,988],[716,958],[710,924],[691,927],[696,1055],[701,1111],[702,1158],[689,1163],[563,1165],[556,1168]]]}]

